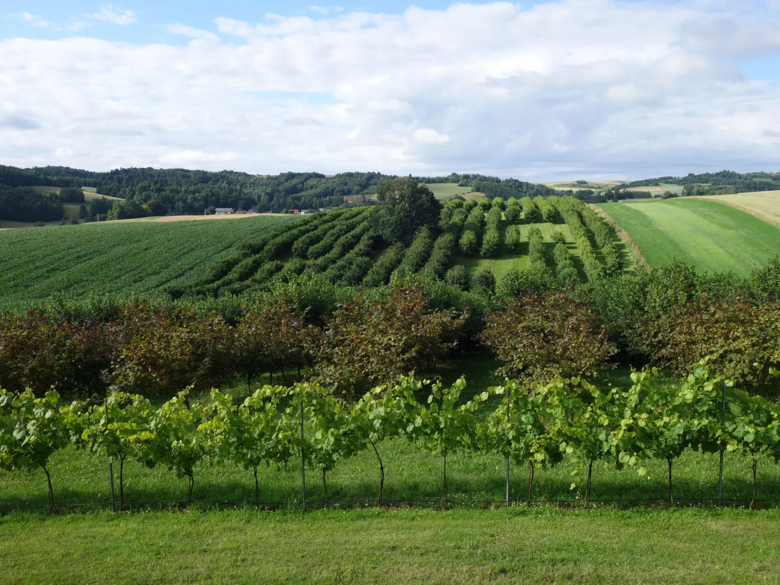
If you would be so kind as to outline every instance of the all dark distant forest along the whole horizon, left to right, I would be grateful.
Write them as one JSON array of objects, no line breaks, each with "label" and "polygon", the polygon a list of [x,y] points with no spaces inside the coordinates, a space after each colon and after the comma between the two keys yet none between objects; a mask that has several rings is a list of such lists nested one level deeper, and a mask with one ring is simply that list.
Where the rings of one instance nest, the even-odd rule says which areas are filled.
[{"label": "all dark distant forest along the whole horizon, left to right", "polygon": [[[94,187],[97,193],[126,201],[114,204],[112,211],[105,207],[110,205],[107,200],[101,202],[103,207],[93,202],[90,215],[108,212],[109,218],[128,218],[166,213],[201,215],[210,207],[233,207],[244,211],[254,208],[277,213],[289,209],[340,207],[345,205],[345,197],[375,193],[381,181],[394,177],[381,172],[342,172],[332,176],[318,172],[285,172],[267,176],[183,168],[119,168],[110,172],[92,172],[58,166],[16,168],[0,165],[0,220],[57,220],[64,213],[62,203],[75,202],[72,198],[32,190],[32,186]],[[509,197],[547,197],[556,193],[551,187],[538,183],[477,174],[453,172],[447,176],[410,178],[417,183],[457,183],[505,200]],[[606,195],[628,197],[626,192],[619,190],[660,183],[681,185],[684,195],[769,191],[780,190],[780,173],[721,171],[685,177],[658,177],[615,186],[614,193],[611,190]],[[578,190],[572,194],[586,201],[605,200],[605,194],[596,196],[592,190]]]}]

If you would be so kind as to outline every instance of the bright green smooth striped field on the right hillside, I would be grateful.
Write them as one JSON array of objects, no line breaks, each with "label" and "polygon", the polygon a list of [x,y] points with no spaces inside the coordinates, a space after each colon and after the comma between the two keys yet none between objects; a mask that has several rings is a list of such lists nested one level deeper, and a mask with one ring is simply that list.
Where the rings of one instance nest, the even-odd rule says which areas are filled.
[{"label": "bright green smooth striped field on the right hillside", "polygon": [[600,204],[652,267],[673,258],[698,271],[748,275],[780,254],[780,229],[714,201],[673,199]]}]

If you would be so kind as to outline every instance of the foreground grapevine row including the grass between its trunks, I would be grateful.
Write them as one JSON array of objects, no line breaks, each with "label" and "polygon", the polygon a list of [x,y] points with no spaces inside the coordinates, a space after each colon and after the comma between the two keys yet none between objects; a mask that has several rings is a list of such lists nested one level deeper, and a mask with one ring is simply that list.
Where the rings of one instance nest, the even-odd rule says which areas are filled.
[{"label": "foreground grapevine row including the grass between its trunks", "polygon": [[[768,490],[777,498],[778,470],[771,462],[780,455],[780,420],[774,403],[736,390],[732,381],[707,371],[705,363],[681,381],[652,372],[634,373],[632,380],[626,390],[607,391],[581,378],[532,388],[507,382],[461,400],[466,398],[463,378],[447,388],[402,377],[351,405],[310,383],[264,386],[237,404],[218,390],[201,399],[180,392],[161,406],[123,393],[103,401],[64,403],[56,392],[41,398],[4,392],[0,464],[6,470],[5,498],[16,495],[20,504],[32,503],[26,498],[34,491],[33,476],[16,478],[20,470],[43,471],[37,474],[39,493],[48,489],[50,508],[57,489],[70,499],[83,491],[94,493],[94,486],[87,486],[94,484],[92,469],[102,459],[106,466],[115,465],[115,499],[106,501],[100,482],[104,487],[94,495],[102,502],[93,503],[120,510],[164,493],[154,487],[160,480],[163,485],[178,481],[179,488],[168,497],[183,503],[214,494],[218,501],[231,502],[225,498],[230,495],[233,504],[255,507],[305,509],[365,498],[378,506],[431,498],[441,505],[490,498],[496,505],[566,499],[587,506],[591,499],[605,499],[605,491],[624,501],[658,498],[675,505],[681,497],[675,488],[686,494],[683,503],[719,497],[712,489],[717,457],[704,455],[718,452],[731,454],[729,476],[741,476],[743,486],[735,493],[734,481],[726,484],[725,501],[753,509],[761,504],[762,478],[766,482],[768,477]],[[87,456],[69,445],[94,457],[85,461]],[[55,466],[56,459],[65,465]],[[339,484],[332,485],[329,478],[350,466],[350,459],[360,459],[360,464],[351,465]],[[459,465],[452,466],[452,459]],[[497,498],[504,495],[497,489],[503,482],[496,481],[502,473],[489,470],[505,460],[512,463],[512,478],[509,469],[505,477],[511,493]],[[212,470],[214,465],[218,469]],[[158,467],[159,473],[154,471]],[[171,479],[161,476],[165,469]],[[423,469],[427,473],[421,474]],[[709,479],[697,485],[702,472]],[[388,495],[385,480],[392,474],[410,484],[399,485],[393,478]],[[623,474],[636,479],[623,479]],[[52,481],[63,475],[73,477],[76,485]],[[227,477],[225,483],[222,478]],[[351,477],[365,483],[350,484]],[[126,492],[126,481],[131,491]],[[477,490],[478,500],[468,493],[470,488]]]}]

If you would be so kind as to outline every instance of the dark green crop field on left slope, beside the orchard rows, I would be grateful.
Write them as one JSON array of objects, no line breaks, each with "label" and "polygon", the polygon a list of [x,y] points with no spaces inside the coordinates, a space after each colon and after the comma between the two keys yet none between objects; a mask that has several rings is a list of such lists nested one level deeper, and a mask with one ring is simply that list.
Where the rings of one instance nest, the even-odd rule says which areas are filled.
[{"label": "dark green crop field on left slope, beside the orchard rows", "polygon": [[293,216],[62,225],[0,232],[0,305],[90,293],[158,293],[207,271],[239,243]]}]

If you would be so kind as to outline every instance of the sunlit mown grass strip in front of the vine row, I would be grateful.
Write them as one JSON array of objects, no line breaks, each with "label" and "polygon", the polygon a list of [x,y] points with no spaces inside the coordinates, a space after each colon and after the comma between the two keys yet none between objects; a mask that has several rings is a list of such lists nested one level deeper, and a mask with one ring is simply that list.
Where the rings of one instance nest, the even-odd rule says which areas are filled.
[{"label": "sunlit mown grass strip in front of the vine row", "polygon": [[0,583],[777,583],[780,513],[156,512],[0,518]]}]

